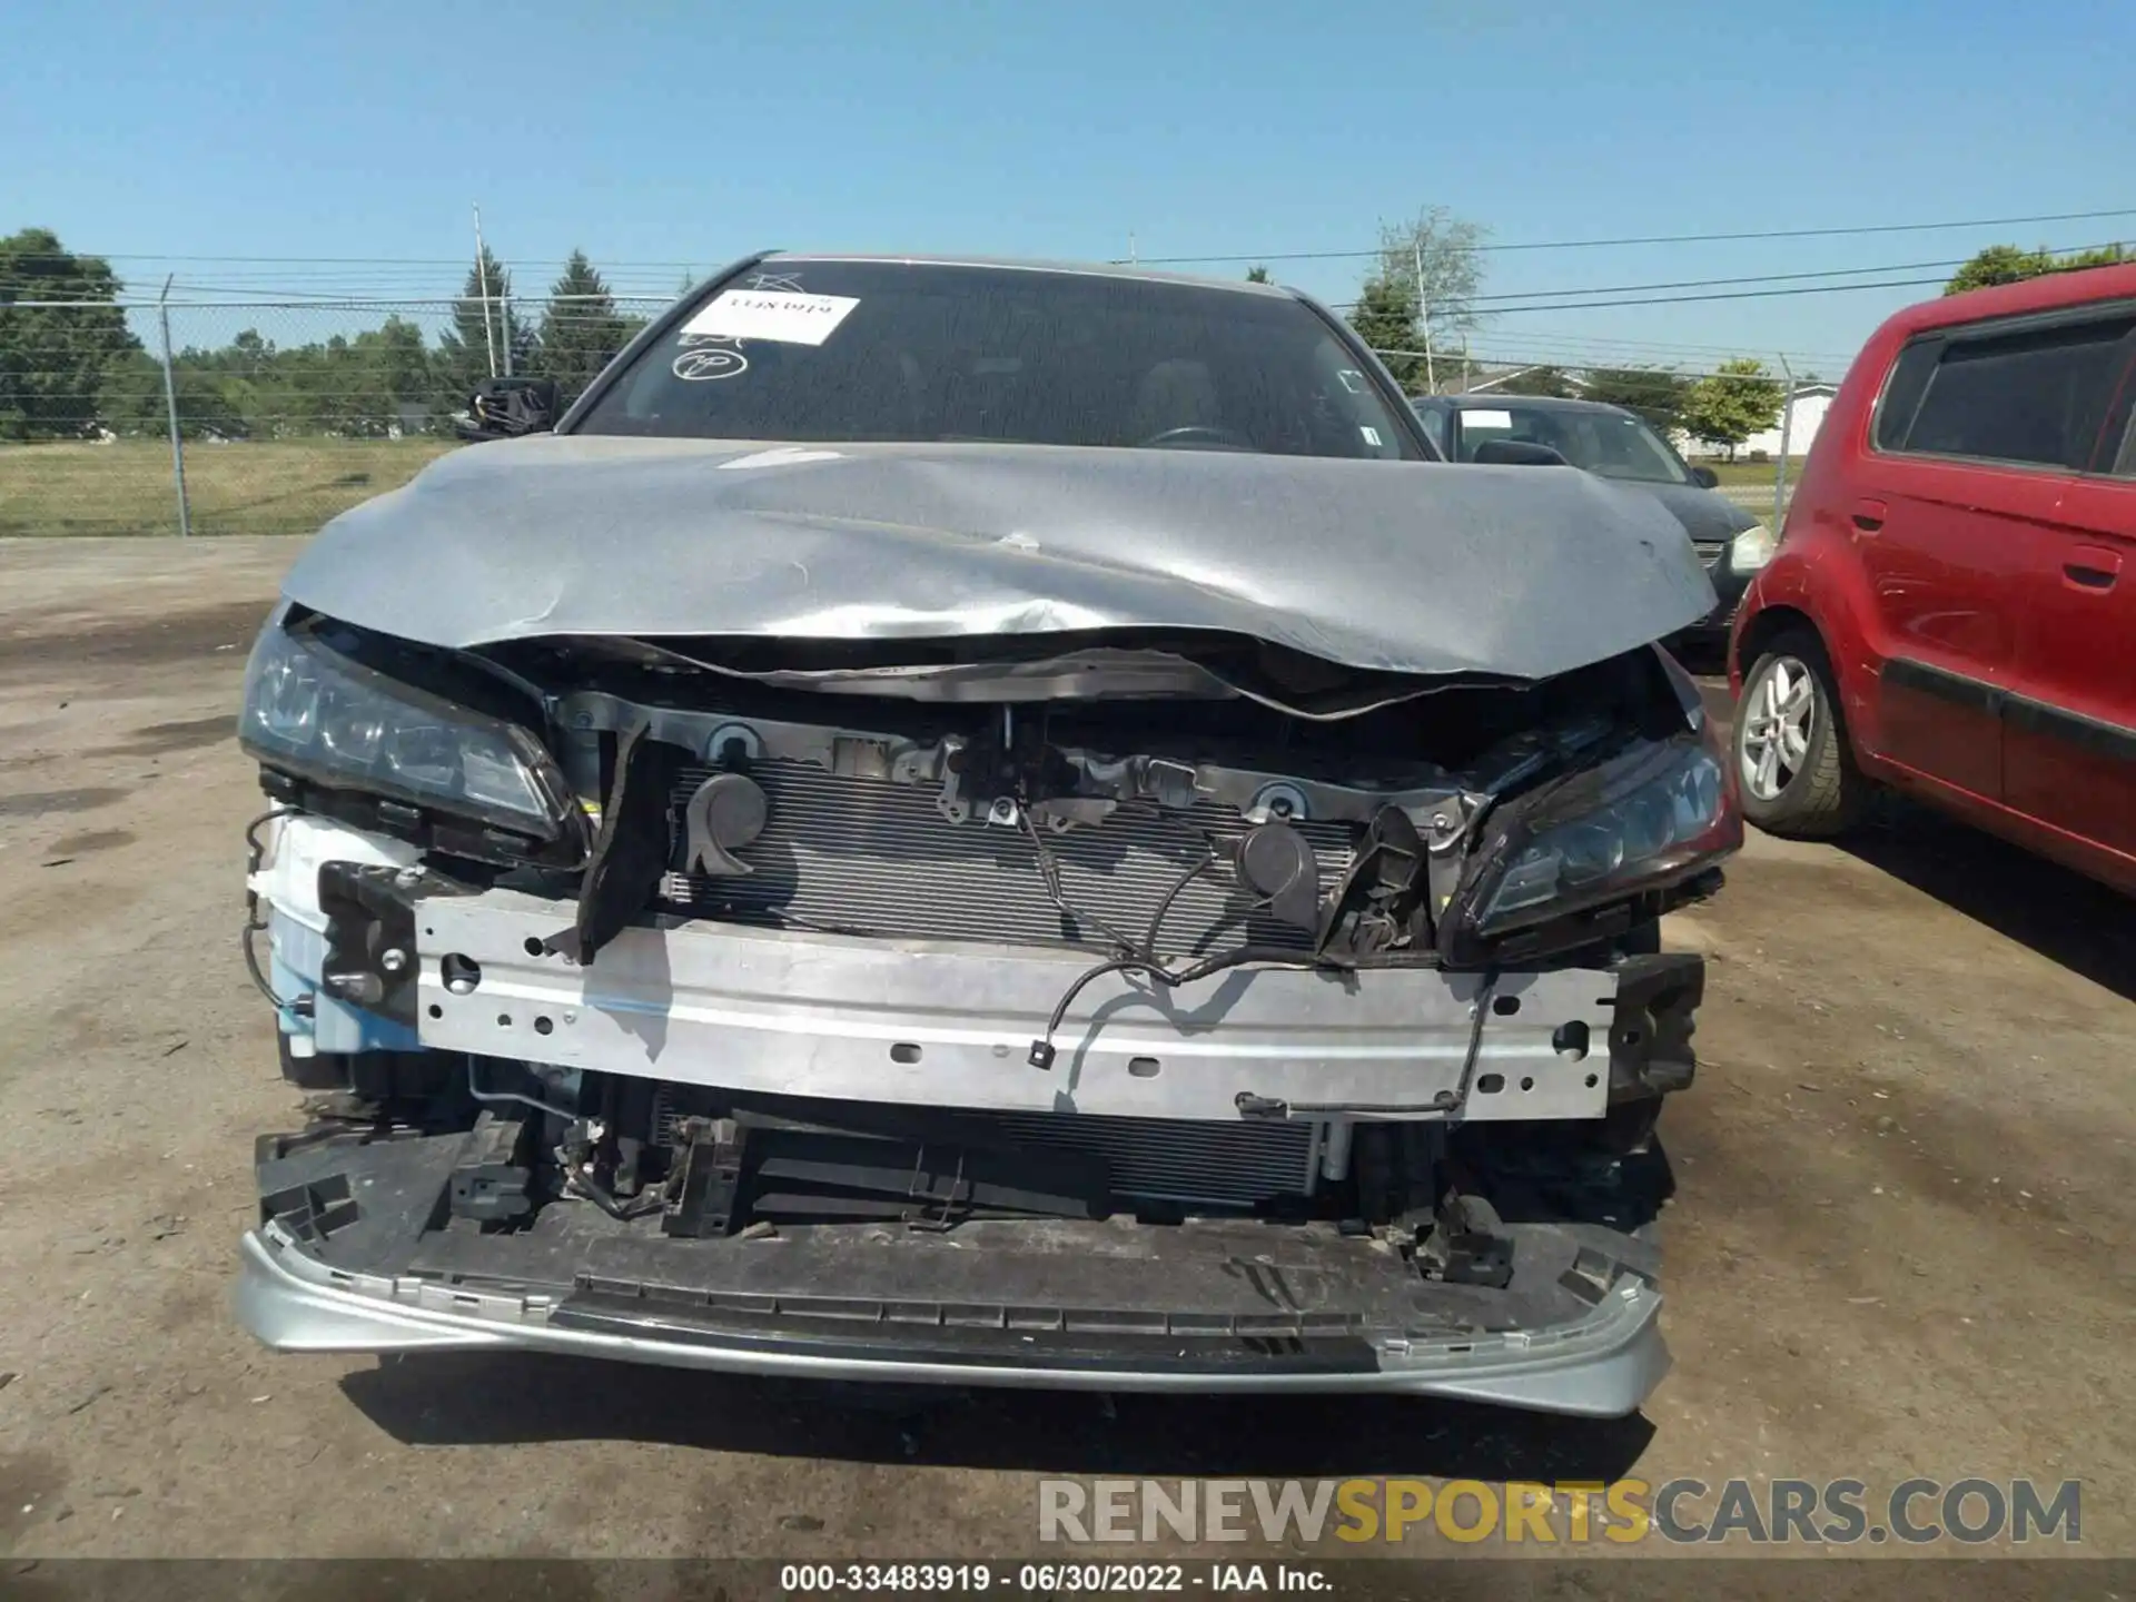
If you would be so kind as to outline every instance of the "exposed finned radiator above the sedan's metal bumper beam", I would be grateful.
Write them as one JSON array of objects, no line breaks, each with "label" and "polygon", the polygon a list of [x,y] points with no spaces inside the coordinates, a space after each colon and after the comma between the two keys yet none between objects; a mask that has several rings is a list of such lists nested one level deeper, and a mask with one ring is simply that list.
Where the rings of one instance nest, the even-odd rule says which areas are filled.
[{"label": "exposed finned radiator above the sedan's metal bumper beam", "polygon": [[[711,769],[690,769],[673,797],[681,818],[690,795]],[[705,878],[671,871],[662,899],[679,912],[784,923],[831,933],[936,940],[1002,940],[1012,944],[1096,944],[1100,929],[1077,927],[1047,899],[1032,842],[1019,827],[951,822],[923,786],[871,778],[837,778],[792,760],[750,767],[769,799],[763,835],[735,852],[748,876]],[[1350,865],[1352,824],[1294,824],[1312,842],[1326,893]],[[1203,803],[1162,812],[1124,803],[1102,824],[1045,831],[1059,865],[1068,904],[1136,938],[1164,895],[1209,839],[1237,839],[1250,829],[1228,807]],[[677,831],[677,857],[679,831]],[[1188,884],[1164,914],[1160,944],[1168,953],[1222,951],[1237,944],[1312,944],[1312,933],[1254,910],[1252,893],[1215,867]]]}]

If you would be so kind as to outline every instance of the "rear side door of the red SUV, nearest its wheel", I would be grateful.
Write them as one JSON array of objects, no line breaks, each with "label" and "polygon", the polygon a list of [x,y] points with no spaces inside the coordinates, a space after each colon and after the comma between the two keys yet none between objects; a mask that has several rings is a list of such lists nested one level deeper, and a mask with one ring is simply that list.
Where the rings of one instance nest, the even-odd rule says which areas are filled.
[{"label": "rear side door of the red SUV, nearest its wheel", "polygon": [[1837,508],[1882,656],[1880,754],[1982,803],[2006,801],[2025,611],[2125,331],[2055,314],[1916,337]]}]

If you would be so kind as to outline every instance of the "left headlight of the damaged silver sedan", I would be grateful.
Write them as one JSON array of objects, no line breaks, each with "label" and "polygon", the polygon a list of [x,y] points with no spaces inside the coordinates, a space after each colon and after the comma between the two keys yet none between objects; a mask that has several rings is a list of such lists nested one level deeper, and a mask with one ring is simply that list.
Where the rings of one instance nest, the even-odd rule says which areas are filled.
[{"label": "left headlight of the damaged silver sedan", "polygon": [[269,622],[246,664],[239,743],[267,767],[557,839],[568,790],[543,743]]}]

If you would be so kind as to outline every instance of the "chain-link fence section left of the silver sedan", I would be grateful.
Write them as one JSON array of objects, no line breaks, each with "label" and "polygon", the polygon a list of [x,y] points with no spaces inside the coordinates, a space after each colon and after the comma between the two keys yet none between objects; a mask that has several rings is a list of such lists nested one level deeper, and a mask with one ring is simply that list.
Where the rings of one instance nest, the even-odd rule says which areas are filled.
[{"label": "chain-link fence section left of the silver sedan", "polygon": [[669,303],[0,305],[0,536],[310,534],[459,449],[481,378],[572,399]]}]

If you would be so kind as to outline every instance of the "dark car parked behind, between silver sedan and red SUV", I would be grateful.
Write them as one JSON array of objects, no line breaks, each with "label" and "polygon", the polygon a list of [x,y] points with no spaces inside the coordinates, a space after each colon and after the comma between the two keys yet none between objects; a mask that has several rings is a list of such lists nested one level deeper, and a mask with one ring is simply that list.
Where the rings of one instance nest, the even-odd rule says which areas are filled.
[{"label": "dark car parked behind, between silver sedan and red SUV", "polygon": [[1685,466],[1638,412],[1602,402],[1489,391],[1420,395],[1412,406],[1450,461],[1476,461],[1478,451],[1491,459],[1508,444],[1527,444],[1555,451],[1585,472],[1645,489],[1683,525],[1717,600],[1672,645],[1717,654],[1728,641],[1745,585],[1773,555],[1773,532],[1717,491],[1711,468]]}]

